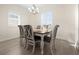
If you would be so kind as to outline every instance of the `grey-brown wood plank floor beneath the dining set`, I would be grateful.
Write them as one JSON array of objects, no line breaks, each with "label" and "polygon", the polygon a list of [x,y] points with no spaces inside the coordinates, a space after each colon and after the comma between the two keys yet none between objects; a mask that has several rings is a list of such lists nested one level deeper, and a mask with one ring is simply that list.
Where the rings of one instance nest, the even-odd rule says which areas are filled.
[{"label": "grey-brown wood plank floor beneath the dining set", "polygon": [[[20,39],[12,39],[0,42],[0,55],[32,55],[32,47],[29,46],[28,50],[24,49],[20,43]],[[75,48],[65,40],[56,40],[56,55],[75,55]],[[40,46],[36,46],[33,55],[41,55]],[[77,51],[77,54],[79,52]],[[51,55],[49,45],[45,43],[44,55]]]}]

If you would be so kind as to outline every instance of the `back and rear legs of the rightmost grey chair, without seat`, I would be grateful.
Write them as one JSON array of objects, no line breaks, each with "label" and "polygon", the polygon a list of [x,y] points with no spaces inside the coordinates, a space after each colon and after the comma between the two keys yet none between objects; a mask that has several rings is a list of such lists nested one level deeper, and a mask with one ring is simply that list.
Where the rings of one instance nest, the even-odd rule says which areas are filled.
[{"label": "back and rear legs of the rightmost grey chair, without seat", "polygon": [[57,36],[58,27],[59,27],[59,25],[55,25],[54,30],[51,35],[50,50],[51,50],[52,54],[56,54],[55,40],[56,40],[56,36]]}]

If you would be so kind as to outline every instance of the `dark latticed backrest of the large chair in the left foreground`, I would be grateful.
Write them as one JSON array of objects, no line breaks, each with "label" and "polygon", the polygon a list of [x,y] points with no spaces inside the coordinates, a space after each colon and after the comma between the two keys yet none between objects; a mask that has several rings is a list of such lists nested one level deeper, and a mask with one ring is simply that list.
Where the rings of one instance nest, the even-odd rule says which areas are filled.
[{"label": "dark latticed backrest of the large chair in the left foreground", "polygon": [[34,35],[33,35],[33,29],[31,25],[24,26],[25,28],[25,38],[28,42],[33,43],[34,42]]}]

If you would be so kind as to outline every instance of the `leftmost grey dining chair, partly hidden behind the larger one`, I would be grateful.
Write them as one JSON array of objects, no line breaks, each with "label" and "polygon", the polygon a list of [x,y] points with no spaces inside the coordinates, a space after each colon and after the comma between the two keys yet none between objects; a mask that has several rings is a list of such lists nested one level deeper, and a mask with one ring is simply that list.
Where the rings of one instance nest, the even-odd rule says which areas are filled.
[{"label": "leftmost grey dining chair, partly hidden behind the larger one", "polygon": [[[25,48],[26,40],[25,40],[24,26],[26,26],[26,25],[18,25],[19,33],[20,33],[20,44]],[[25,41],[25,43],[24,43],[24,41]]]}]

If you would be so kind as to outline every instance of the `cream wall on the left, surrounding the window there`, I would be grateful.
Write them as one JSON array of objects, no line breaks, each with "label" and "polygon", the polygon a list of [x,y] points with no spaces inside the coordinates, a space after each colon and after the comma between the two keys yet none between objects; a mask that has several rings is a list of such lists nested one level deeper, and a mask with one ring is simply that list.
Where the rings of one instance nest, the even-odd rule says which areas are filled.
[{"label": "cream wall on the left, surrounding the window there", "polygon": [[8,12],[15,12],[21,17],[21,24],[27,24],[26,9],[19,5],[0,4],[0,41],[17,38],[19,36],[18,26],[8,26]]}]

